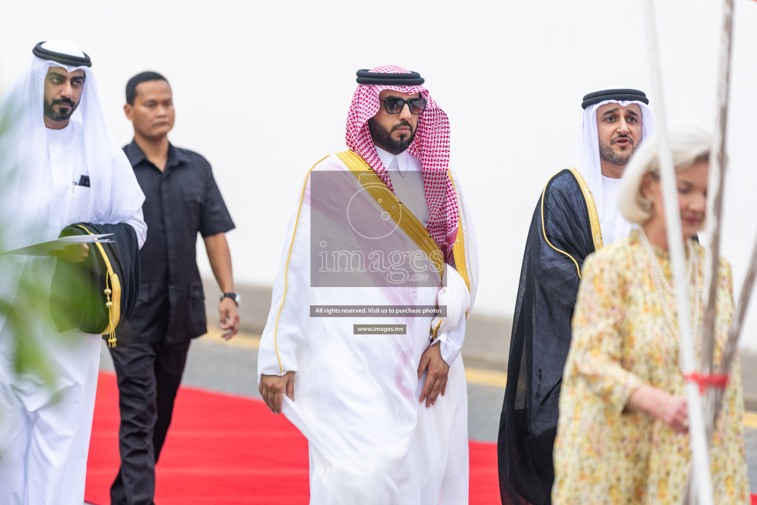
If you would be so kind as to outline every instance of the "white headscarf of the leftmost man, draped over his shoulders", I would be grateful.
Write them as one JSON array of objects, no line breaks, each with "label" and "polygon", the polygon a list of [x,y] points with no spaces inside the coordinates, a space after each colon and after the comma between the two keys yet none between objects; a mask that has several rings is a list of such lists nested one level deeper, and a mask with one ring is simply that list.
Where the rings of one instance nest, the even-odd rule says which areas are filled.
[{"label": "white headscarf of the leftmost man, draped over his shoulders", "polygon": [[[48,54],[86,58],[76,45],[64,40],[44,42]],[[37,53],[36,53],[37,54]],[[53,56],[51,56],[52,58]],[[61,58],[64,59],[64,58]],[[89,58],[87,58],[89,60]],[[79,105],[70,121],[79,123],[83,132],[86,166],[94,196],[90,211],[95,223],[118,223],[129,220],[131,211],[141,217],[142,192],[136,194],[132,185],[114,188],[114,173],[124,170],[133,176],[126,155],[111,137],[105,126],[95,75],[88,64],[80,66],[60,63],[33,56],[23,72],[0,98],[0,242],[2,251],[50,240],[61,230],[48,230],[48,214],[42,205],[42,182],[47,161],[48,133],[43,119],[45,77],[50,67],[63,67],[67,72],[84,70],[85,82]],[[130,182],[130,181],[129,181]],[[134,180],[136,182],[136,179]],[[139,189],[139,185],[136,185]],[[130,200],[127,207],[114,214],[111,197],[116,191]],[[132,195],[132,193],[134,193]],[[118,195],[120,196],[120,195]],[[133,198],[132,198],[133,197]],[[122,215],[123,214],[123,215]],[[145,230],[137,231],[139,243],[145,240]],[[0,298],[12,301],[20,279],[25,256],[0,256]],[[5,316],[0,314],[0,329]]]}]

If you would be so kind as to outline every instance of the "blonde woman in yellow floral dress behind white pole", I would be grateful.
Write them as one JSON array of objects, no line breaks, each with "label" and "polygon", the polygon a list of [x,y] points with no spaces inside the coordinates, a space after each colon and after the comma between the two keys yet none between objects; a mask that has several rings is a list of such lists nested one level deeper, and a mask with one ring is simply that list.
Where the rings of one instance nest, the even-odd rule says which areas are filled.
[{"label": "blonde woman in yellow floral dress behind white pole", "polygon": [[[710,138],[671,133],[687,251],[692,327],[702,324]],[[621,182],[618,208],[637,230],[584,263],[565,363],[554,448],[554,505],[681,503],[691,460],[675,289],[668,258],[656,142],[645,142]],[[731,267],[718,273],[715,364],[734,309]],[[697,344],[699,347],[699,344]],[[698,349],[697,349],[698,353]],[[715,503],[749,503],[738,360],[712,441]]]}]

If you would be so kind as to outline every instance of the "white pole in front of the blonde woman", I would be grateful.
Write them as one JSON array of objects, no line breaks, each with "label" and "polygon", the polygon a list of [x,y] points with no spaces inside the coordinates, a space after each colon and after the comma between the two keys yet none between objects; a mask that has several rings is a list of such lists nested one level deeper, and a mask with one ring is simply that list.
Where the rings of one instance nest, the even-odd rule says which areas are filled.
[{"label": "white pole in front of the blonde woman", "polygon": [[[678,190],[675,183],[675,168],[673,154],[668,139],[668,123],[665,117],[664,95],[662,93],[662,73],[659,61],[659,45],[657,42],[657,26],[654,14],[653,0],[645,0],[644,14],[646,17],[646,36],[650,51],[652,66],[652,81],[657,100],[656,116],[659,138],[659,164],[662,180],[662,198],[665,204],[665,223],[668,231],[668,251],[671,257],[671,268],[675,284],[675,295],[678,306],[678,338],[681,340],[681,358],[684,374],[692,373],[695,369],[694,344],[691,337],[691,312],[689,310],[688,279],[686,278],[686,254],[684,254],[683,231],[681,229],[681,213],[678,210]],[[709,466],[709,447],[705,432],[705,419],[702,414],[702,398],[699,396],[699,386],[693,382],[686,383],[687,406],[689,410],[689,435],[691,452],[693,454],[693,469],[699,490],[699,504],[713,505],[712,475]]]}]

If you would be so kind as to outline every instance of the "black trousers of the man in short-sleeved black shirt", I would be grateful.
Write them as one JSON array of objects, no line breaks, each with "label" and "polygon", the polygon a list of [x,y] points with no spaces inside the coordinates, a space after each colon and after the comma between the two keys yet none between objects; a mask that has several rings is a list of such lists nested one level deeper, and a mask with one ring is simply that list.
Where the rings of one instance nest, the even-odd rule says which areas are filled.
[{"label": "black trousers of the man in short-sleeved black shirt", "polygon": [[171,424],[189,341],[110,348],[118,380],[121,467],[111,505],[154,505],[155,463]]}]

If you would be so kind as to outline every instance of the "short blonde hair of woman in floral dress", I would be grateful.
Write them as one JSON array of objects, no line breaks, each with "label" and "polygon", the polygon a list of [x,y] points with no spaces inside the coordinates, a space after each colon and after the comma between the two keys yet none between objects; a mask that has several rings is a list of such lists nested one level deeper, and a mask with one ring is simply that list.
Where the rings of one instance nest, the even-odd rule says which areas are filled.
[{"label": "short blonde hair of woman in floral dress", "polygon": [[[687,170],[693,164],[709,161],[712,136],[696,126],[671,129],[670,147],[676,172]],[[644,174],[659,179],[659,136],[645,139],[631,157],[618,189],[618,210],[631,223],[646,223],[653,215],[652,202],[641,195]]]}]

